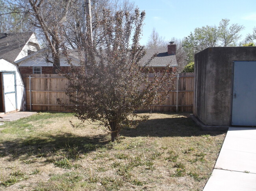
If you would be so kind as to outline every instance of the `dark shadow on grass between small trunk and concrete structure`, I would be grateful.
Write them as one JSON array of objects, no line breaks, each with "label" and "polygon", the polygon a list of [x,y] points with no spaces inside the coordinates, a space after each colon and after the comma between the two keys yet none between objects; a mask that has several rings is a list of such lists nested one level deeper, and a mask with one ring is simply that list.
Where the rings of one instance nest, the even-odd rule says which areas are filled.
[{"label": "dark shadow on grass between small trunk and concrete structure", "polygon": [[128,137],[190,137],[201,135],[219,135],[224,132],[203,131],[188,117],[170,117],[162,119],[149,119],[140,123],[137,128],[124,128],[120,135]]}]

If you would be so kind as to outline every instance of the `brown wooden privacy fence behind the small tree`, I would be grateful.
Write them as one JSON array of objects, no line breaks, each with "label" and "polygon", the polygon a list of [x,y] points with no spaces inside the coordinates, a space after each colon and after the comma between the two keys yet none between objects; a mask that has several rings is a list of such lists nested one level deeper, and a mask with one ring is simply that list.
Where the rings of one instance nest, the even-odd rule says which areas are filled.
[{"label": "brown wooden privacy fence behind the small tree", "polygon": [[[70,105],[65,95],[68,80],[58,74],[23,74],[26,86],[26,106],[32,111],[65,111],[56,99]],[[174,78],[176,88],[163,105],[151,106],[151,111],[193,111],[194,73],[182,73]]]}]

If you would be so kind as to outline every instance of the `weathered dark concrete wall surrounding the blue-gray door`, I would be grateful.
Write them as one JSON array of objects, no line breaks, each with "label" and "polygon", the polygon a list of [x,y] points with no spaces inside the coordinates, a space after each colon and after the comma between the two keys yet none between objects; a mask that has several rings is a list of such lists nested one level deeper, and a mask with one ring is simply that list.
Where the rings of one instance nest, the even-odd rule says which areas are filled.
[{"label": "weathered dark concrete wall surrounding the blue-gray door", "polygon": [[195,117],[208,126],[230,126],[233,61],[255,60],[256,47],[211,47],[195,54]]}]

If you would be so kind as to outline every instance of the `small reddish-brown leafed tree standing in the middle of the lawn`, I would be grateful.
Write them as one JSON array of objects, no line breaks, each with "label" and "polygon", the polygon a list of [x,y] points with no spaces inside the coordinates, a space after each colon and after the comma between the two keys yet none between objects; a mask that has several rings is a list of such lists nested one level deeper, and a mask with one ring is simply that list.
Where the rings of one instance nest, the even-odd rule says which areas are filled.
[{"label": "small reddish-brown leafed tree standing in the middle of the lawn", "polygon": [[[141,63],[146,53],[139,45],[145,12],[135,9],[132,15],[123,11],[112,15],[103,10],[102,14],[98,25],[102,41],[96,45],[87,38],[88,62],[81,56],[82,67],[77,69],[70,63],[70,73],[63,75],[69,79],[67,95],[75,105],[69,109],[82,121],[100,122],[115,141],[122,127],[135,125],[136,121],[131,121],[134,117],[147,119],[135,110],[166,99],[173,75],[169,67],[161,75],[149,74],[151,59]],[[68,58],[68,51],[65,54]]]}]

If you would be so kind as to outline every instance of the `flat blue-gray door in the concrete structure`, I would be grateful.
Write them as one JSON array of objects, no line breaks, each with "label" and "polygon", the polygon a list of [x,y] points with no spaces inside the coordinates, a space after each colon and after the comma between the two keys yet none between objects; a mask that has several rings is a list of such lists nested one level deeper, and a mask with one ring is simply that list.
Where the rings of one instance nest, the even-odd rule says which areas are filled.
[{"label": "flat blue-gray door in the concrete structure", "polygon": [[256,126],[256,61],[234,61],[231,124]]}]

